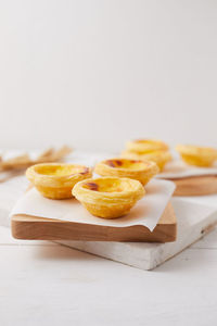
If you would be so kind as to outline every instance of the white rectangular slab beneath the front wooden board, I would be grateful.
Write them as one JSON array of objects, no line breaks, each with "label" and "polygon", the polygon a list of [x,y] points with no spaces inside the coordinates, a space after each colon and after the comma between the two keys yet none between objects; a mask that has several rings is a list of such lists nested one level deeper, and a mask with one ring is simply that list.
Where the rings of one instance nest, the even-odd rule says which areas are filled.
[{"label": "white rectangular slab beneath the front wooden board", "polygon": [[58,241],[141,269],[153,269],[202,238],[217,223],[215,208],[173,199],[178,220],[177,241],[168,243]]}]

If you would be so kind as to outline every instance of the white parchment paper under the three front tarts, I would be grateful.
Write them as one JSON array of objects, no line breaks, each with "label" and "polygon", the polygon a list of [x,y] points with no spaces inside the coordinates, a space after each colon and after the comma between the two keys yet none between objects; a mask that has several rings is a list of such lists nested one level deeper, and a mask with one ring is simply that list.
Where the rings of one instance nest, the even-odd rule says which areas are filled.
[{"label": "white parchment paper under the three front tarts", "polygon": [[145,187],[145,197],[138,201],[129,214],[116,220],[104,220],[92,216],[76,199],[50,200],[43,198],[35,188],[27,191],[16,202],[11,215],[26,214],[37,217],[114,227],[143,225],[152,231],[171,198],[175,184],[168,180],[153,179]]}]

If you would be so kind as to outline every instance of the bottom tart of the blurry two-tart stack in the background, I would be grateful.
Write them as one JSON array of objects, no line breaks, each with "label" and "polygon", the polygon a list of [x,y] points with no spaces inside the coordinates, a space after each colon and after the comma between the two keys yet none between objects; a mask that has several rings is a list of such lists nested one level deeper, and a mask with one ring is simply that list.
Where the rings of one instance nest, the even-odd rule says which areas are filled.
[{"label": "bottom tart of the blurry two-tart stack in the background", "polygon": [[136,153],[133,151],[122,152],[122,158],[141,161],[152,161],[155,162],[159,168],[159,172],[164,170],[166,163],[171,161],[171,154],[169,151],[152,151],[149,153]]}]

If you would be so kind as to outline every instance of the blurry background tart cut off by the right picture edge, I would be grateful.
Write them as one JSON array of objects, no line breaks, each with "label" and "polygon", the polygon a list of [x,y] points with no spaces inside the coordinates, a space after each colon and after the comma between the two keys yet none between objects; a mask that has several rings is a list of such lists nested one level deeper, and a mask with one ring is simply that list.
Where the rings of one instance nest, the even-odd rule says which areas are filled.
[{"label": "blurry background tart cut off by the right picture edge", "polygon": [[176,150],[182,160],[190,165],[208,167],[217,160],[217,150],[209,147],[178,145]]}]

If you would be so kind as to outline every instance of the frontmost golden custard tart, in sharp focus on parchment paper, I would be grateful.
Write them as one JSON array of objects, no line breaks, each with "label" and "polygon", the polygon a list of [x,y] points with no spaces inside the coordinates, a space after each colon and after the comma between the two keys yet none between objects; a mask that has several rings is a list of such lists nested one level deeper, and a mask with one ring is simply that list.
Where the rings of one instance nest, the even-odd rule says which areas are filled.
[{"label": "frontmost golden custard tart, in sharp focus on parchment paper", "polygon": [[75,185],[73,195],[94,216],[116,218],[127,214],[145,193],[138,180],[101,177]]}]

